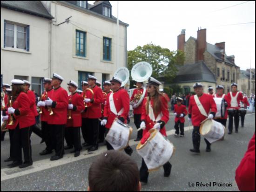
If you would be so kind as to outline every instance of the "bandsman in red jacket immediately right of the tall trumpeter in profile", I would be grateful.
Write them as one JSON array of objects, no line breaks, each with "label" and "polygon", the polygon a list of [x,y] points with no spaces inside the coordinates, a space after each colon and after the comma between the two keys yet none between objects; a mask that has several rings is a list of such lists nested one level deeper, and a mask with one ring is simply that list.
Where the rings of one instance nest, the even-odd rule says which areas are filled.
[{"label": "bandsman in red jacket immediately right of the tall trumpeter in profile", "polygon": [[74,157],[77,157],[80,155],[80,149],[82,148],[80,137],[80,127],[82,125],[81,111],[84,111],[85,106],[83,98],[76,92],[78,88],[77,83],[71,80],[67,85],[68,91],[72,93],[68,96],[71,100],[71,103],[68,104],[68,110],[71,110],[72,119],[67,119],[67,133],[65,132],[65,138],[70,138],[71,145],[74,145],[74,150],[71,152],[74,152]]}]

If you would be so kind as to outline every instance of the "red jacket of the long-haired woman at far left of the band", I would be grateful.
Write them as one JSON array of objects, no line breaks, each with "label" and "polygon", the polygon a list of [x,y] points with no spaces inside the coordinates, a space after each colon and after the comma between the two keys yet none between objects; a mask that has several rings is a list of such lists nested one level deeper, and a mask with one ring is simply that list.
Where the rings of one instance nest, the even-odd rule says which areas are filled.
[{"label": "red jacket of the long-haired woman at far left of the band", "polygon": [[[20,92],[18,97],[13,102],[13,108],[18,109],[20,112],[20,114],[17,114],[17,113],[13,114],[15,118],[14,120],[15,127],[18,126],[19,124],[21,129],[21,128],[33,126],[35,124],[34,113],[30,108],[30,100],[26,93]],[[15,110],[15,112],[18,110]]]}]

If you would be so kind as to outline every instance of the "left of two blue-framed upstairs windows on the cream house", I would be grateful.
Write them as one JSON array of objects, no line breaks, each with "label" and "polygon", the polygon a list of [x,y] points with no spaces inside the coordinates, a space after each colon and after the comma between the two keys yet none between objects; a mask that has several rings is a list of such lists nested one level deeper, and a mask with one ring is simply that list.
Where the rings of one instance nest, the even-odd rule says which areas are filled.
[{"label": "left of two blue-framed upstairs windows on the cream house", "polygon": [[75,55],[76,56],[86,57],[85,40],[86,40],[86,33],[76,30],[76,38],[75,38]]}]

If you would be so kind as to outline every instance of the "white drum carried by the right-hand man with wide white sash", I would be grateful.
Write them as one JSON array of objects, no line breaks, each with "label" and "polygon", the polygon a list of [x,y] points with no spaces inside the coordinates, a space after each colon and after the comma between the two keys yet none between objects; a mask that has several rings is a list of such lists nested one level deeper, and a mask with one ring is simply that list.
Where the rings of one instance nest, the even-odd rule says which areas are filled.
[{"label": "white drum carried by the right-hand man with wide white sash", "polygon": [[225,127],[213,119],[207,119],[201,124],[199,132],[210,143],[213,143],[224,136]]}]

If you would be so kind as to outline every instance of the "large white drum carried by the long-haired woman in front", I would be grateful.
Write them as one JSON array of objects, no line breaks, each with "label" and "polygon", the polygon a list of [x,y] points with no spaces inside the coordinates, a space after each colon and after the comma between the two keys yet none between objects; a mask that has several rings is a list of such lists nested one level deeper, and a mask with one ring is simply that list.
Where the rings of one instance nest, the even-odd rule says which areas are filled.
[{"label": "large white drum carried by the long-haired woman in front", "polygon": [[148,171],[155,171],[167,163],[172,157],[175,147],[156,129],[150,129],[149,133],[150,136],[146,142],[141,144],[140,141],[136,150],[144,159]]}]

